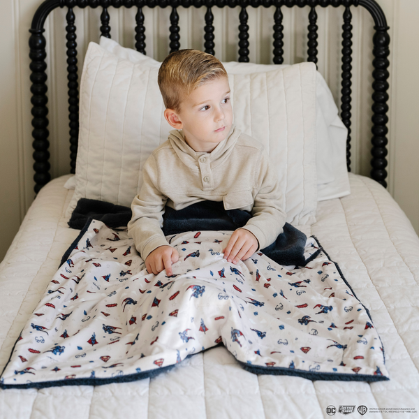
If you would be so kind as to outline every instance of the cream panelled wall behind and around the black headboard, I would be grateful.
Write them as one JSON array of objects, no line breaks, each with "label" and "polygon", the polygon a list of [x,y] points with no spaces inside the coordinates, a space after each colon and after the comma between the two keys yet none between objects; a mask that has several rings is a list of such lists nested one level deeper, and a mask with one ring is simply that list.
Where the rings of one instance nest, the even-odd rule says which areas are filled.
[{"label": "cream panelled wall behind and around the black headboard", "polygon": [[[390,26],[392,64],[390,70],[390,132],[388,188],[419,232],[419,1],[377,0]],[[29,82],[29,32],[31,19],[41,0],[1,0],[0,13],[0,260],[17,232],[18,226],[34,199],[31,147],[31,104]],[[285,64],[303,61],[307,50],[308,9],[283,8]],[[330,85],[339,105],[340,27],[343,8],[318,10],[318,68]],[[372,18],[362,8],[353,13],[353,125],[352,171],[368,175],[371,106]],[[147,54],[163,59],[168,53],[170,10],[145,9]],[[273,9],[249,8],[250,59],[272,62]],[[75,8],[78,27],[79,68],[88,41],[98,41],[101,10]],[[214,8],[216,57],[223,61],[237,59],[239,10]],[[50,153],[52,177],[69,172],[68,111],[66,87],[66,47],[62,36],[66,10],[58,9],[48,17],[47,64],[50,105]],[[133,47],[135,10],[110,8],[111,35],[124,46]],[[179,8],[182,22],[181,47],[203,49],[204,8]],[[293,34],[295,31],[295,34]]]}]

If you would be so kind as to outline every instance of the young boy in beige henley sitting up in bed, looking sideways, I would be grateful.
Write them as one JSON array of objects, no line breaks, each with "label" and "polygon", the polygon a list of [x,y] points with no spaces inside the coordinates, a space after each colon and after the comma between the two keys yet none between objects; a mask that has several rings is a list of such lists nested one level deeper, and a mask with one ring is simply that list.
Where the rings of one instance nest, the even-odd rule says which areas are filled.
[{"label": "young boy in beige henley sitting up in bed, looking sideways", "polygon": [[170,131],[144,165],[128,234],[147,271],[166,270],[170,276],[179,254],[161,230],[165,205],[182,210],[203,200],[222,200],[226,210],[252,214],[223,249],[228,262],[246,260],[277,239],[286,214],[263,145],[233,126],[226,70],[211,54],[180,50],[163,61],[158,82],[164,117],[179,131]]}]

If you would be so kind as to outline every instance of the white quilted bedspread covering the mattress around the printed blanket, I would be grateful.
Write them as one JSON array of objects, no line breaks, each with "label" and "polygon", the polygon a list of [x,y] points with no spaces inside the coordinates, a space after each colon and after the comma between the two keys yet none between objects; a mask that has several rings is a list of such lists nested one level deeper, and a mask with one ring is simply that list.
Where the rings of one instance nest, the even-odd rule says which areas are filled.
[{"label": "white quilted bedspread covering the mattress around the printed blanket", "polygon": [[[67,179],[41,190],[0,265],[0,371],[78,236],[65,216]],[[318,238],[369,309],[390,381],[256,375],[216,347],[132,383],[0,390],[0,418],[329,418],[351,406],[374,418],[418,417],[419,239],[381,185],[352,174],[350,181],[351,195],[318,203],[316,223],[301,229]]]}]

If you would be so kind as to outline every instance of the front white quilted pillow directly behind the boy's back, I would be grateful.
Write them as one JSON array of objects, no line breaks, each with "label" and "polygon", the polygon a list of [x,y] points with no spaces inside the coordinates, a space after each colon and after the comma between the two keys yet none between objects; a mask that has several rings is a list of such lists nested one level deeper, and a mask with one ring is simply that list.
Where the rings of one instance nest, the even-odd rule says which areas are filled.
[{"label": "front white quilted pillow directly behind the boy's back", "polygon": [[[142,184],[143,164],[172,129],[163,117],[159,65],[145,66],[132,59],[134,52],[118,57],[89,44],[80,86],[76,186],[68,215],[83,197],[131,205]],[[230,74],[229,81],[237,126],[262,142],[277,166],[287,221],[314,223],[316,66]]]}]

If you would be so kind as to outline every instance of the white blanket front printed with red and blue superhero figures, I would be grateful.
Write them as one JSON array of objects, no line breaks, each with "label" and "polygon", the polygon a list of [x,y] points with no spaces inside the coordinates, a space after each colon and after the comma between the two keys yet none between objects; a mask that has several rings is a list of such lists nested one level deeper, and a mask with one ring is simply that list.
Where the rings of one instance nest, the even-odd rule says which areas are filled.
[{"label": "white blanket front printed with red and blue superhero figures", "polygon": [[[237,265],[229,231],[168,236],[171,277],[149,274],[127,233],[90,221],[13,348],[2,388],[154,376],[223,344],[245,369],[312,380],[387,380],[367,309],[323,249],[305,267],[263,253]],[[304,257],[320,245],[309,237]]]}]

